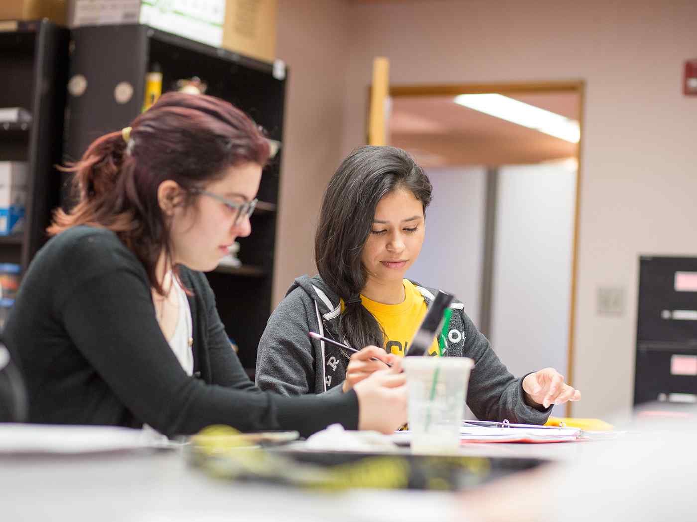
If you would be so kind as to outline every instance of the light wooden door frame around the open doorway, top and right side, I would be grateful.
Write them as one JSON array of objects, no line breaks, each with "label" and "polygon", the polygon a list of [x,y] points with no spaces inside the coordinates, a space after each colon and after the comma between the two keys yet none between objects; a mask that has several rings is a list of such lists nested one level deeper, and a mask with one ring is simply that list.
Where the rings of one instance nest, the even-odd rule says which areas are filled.
[{"label": "light wooden door frame around the open doorway, top and right side", "polygon": [[[389,95],[396,97],[457,96],[460,94],[542,94],[575,93],[579,96],[579,129],[581,136],[576,144],[576,196],[574,201],[574,228],[572,232],[571,289],[569,295],[569,340],[567,342],[567,367],[565,381],[574,382],[574,332],[576,331],[576,299],[579,267],[579,215],[581,211],[581,158],[583,152],[583,125],[585,113],[585,81],[520,81],[512,83],[487,84],[418,84],[390,86]],[[572,402],[566,403],[566,416],[572,416]]]}]

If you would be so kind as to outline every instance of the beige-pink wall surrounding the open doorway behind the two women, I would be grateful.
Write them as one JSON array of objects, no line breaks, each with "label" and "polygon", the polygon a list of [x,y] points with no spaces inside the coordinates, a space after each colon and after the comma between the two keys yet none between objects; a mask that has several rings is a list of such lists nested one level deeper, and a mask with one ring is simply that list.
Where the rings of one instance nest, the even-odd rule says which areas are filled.
[{"label": "beige-pink wall surrounding the open doorway behind the two women", "polygon": [[[312,3],[321,13],[307,19],[291,3]],[[584,79],[574,336],[574,384],[583,401],[574,414],[606,416],[629,406],[638,254],[697,252],[697,98],[683,97],[680,84],[682,63],[696,52],[697,2],[280,4],[278,54],[286,56],[298,83],[291,82],[286,120],[277,288],[290,274],[312,269],[306,248],[311,230],[284,235],[309,223],[316,207],[300,207],[294,199],[318,198],[321,180],[363,143],[373,56],[390,58],[392,84]],[[299,49],[301,43],[308,49]],[[298,92],[311,86],[315,93]],[[597,315],[601,285],[627,290],[624,315]]]}]

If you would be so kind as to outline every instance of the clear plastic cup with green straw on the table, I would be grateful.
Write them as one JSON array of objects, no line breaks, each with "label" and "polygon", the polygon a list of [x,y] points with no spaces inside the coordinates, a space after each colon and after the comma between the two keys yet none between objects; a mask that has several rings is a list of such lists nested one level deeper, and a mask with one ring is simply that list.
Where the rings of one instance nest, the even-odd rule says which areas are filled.
[{"label": "clear plastic cup with green straw on the table", "polygon": [[452,454],[460,445],[472,359],[405,357],[411,452]]}]

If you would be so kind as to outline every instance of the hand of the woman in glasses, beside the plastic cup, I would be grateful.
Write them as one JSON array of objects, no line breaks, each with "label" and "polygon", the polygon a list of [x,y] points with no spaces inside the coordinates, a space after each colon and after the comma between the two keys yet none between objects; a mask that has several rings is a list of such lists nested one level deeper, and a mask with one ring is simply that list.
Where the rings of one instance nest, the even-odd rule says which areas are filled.
[{"label": "hand of the woman in glasses, beside the plastic cup", "polygon": [[[379,363],[382,364],[382,363]],[[406,377],[399,360],[388,370],[378,370],[355,386],[358,395],[358,429],[390,434],[406,422]]]}]

